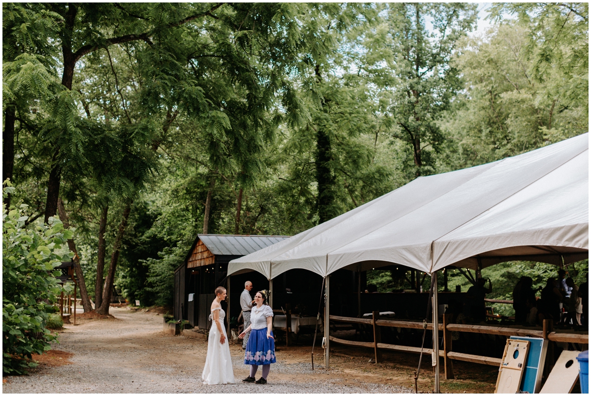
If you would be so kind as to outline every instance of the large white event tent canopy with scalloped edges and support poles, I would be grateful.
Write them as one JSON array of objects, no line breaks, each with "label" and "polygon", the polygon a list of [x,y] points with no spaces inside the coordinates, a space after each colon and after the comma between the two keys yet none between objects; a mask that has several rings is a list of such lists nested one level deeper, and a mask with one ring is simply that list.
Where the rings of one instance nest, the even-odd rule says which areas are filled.
[{"label": "large white event tent canopy with scalloped edges and support poles", "polygon": [[[331,274],[341,268],[365,271],[398,264],[436,280],[437,271],[450,265],[479,271],[514,260],[556,265],[581,261],[589,257],[588,169],[588,134],[584,134],[493,163],[419,177],[314,228],[230,261],[228,275],[258,271],[272,281],[296,268],[320,275],[327,291],[324,334],[329,335],[329,284]],[[429,326],[433,356],[440,355],[438,305],[435,287]],[[326,337],[327,368],[330,340]],[[434,361],[434,391],[439,392],[439,359]]]}]

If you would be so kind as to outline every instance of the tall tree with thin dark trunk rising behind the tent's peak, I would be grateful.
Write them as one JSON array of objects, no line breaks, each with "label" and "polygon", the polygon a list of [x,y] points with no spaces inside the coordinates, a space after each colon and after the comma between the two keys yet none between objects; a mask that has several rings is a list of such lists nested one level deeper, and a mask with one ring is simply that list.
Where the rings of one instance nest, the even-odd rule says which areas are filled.
[{"label": "tall tree with thin dark trunk rising behind the tent's peak", "polygon": [[434,154],[439,154],[446,139],[439,121],[462,88],[460,71],[450,59],[460,38],[472,30],[476,6],[390,4],[386,20],[388,61],[397,79],[389,108],[398,127],[392,137],[410,150],[413,165],[408,170],[414,177],[433,174]]}]

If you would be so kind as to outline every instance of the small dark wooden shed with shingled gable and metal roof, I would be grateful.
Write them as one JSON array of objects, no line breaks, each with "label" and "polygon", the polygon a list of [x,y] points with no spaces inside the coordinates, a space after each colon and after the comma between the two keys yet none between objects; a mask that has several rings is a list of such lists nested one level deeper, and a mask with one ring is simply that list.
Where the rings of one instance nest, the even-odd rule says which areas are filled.
[{"label": "small dark wooden shed with shingled gable and metal roof", "polygon": [[[256,290],[269,287],[259,272],[233,275],[228,281],[228,262],[287,239],[284,235],[219,235],[198,234],[183,264],[174,271],[174,319],[189,320],[193,327],[209,329],[209,307],[217,286],[242,293],[244,282],[252,282]],[[232,298],[230,310],[222,302],[226,318],[238,317],[238,298]],[[227,323],[226,323],[227,325]]]}]

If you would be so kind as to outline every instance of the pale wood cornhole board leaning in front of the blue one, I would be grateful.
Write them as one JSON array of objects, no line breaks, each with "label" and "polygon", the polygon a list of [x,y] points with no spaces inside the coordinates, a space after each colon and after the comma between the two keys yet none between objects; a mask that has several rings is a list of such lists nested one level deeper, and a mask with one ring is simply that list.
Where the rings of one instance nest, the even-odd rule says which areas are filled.
[{"label": "pale wood cornhole board leaning in front of the blue one", "polygon": [[527,361],[530,342],[508,339],[496,378],[495,393],[517,393]]}]

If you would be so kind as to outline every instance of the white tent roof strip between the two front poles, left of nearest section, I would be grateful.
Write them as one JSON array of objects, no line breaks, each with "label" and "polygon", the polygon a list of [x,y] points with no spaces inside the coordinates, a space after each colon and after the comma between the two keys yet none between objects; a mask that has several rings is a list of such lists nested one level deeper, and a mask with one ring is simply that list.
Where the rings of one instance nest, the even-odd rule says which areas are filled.
[{"label": "white tent roof strip between the two front poles, left of nearest section", "polygon": [[366,260],[390,261],[430,272],[433,241],[567,163],[587,147],[585,134],[493,163],[493,167],[420,209],[331,252],[327,273]]}]

